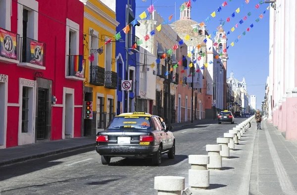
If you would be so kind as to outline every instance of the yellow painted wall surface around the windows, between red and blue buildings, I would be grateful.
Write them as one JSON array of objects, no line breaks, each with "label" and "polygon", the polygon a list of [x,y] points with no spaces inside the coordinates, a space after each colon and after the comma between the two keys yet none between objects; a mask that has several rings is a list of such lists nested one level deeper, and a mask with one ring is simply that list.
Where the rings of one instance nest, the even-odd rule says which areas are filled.
[{"label": "yellow painted wall surface around the windows, between red and blue buildings", "polygon": [[[115,13],[112,12],[111,10],[109,10],[108,8],[105,7],[104,4],[101,4],[98,0],[89,0],[89,2],[91,2],[92,4],[94,4],[97,8],[99,8],[101,11],[103,11],[104,13],[106,13],[107,15],[109,15],[110,17],[112,17],[113,19],[115,19]],[[106,25],[107,27],[111,28],[112,30],[116,30],[116,25],[112,24],[111,22],[109,22],[106,18],[102,17],[102,15],[99,15],[97,12],[91,10],[88,6],[88,3],[85,5],[84,11],[89,13],[91,16],[95,17],[97,19],[97,21],[103,23],[104,25]],[[99,40],[98,40],[98,46],[92,46],[92,49],[99,49],[101,46],[103,46],[103,53],[102,54],[98,54],[98,65],[100,67],[104,68],[104,64],[105,64],[105,46],[104,46],[104,41],[102,41],[101,39],[105,39],[104,36],[102,35],[106,35],[107,37],[111,38],[114,36],[114,34],[110,33],[109,31],[106,30],[106,28],[102,28],[99,25],[97,25],[96,23],[92,22],[91,20],[89,20],[88,18],[84,17],[84,34],[87,34],[86,36],[86,41],[84,41],[84,55],[86,58],[88,58],[91,54],[90,54],[90,28],[94,29],[94,31],[97,31],[99,33]],[[87,43],[88,42],[88,43]],[[112,58],[115,59],[115,43],[110,43],[112,46]],[[107,95],[111,95],[113,96],[113,100],[114,100],[114,110],[112,112],[116,112],[116,90],[114,89],[107,89],[104,86],[94,86],[94,85],[90,85],[90,65],[91,62],[89,59],[86,60],[86,78],[88,81],[88,84],[85,85],[86,87],[92,87],[93,88],[93,105],[94,108],[93,110],[96,111],[97,110],[97,93],[100,94],[104,94],[104,111],[106,112],[106,108],[107,108]],[[111,71],[117,72],[116,71],[116,62],[111,64]]]}]

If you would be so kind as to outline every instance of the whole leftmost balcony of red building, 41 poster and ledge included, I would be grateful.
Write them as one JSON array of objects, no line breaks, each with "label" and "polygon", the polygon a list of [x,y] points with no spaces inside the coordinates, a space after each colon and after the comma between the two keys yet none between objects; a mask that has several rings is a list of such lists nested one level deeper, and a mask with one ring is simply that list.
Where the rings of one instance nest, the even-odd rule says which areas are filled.
[{"label": "whole leftmost balcony of red building, 41 poster and ledge included", "polygon": [[0,33],[2,35],[1,37],[3,38],[3,41],[1,41],[3,43],[0,43],[0,62],[6,64],[18,64],[20,36],[2,28],[0,28]]}]

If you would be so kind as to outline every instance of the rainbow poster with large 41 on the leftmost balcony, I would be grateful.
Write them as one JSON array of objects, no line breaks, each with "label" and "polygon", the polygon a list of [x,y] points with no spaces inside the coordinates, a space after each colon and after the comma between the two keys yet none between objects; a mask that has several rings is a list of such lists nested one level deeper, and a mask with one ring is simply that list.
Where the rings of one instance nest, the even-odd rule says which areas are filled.
[{"label": "rainbow poster with large 41 on the leftmost balcony", "polygon": [[2,56],[17,59],[16,34],[0,28],[0,53]]}]

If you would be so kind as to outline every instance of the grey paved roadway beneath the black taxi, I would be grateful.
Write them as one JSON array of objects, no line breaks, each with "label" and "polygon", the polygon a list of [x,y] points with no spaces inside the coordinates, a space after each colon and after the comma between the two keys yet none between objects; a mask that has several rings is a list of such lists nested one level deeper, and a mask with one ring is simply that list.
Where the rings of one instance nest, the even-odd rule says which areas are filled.
[{"label": "grey paved roadway beneath the black taxi", "polygon": [[[102,165],[94,147],[30,160],[0,168],[1,195],[155,195],[154,177],[162,175],[187,177],[191,165],[188,155],[207,154],[205,145],[216,144],[216,138],[235,124],[188,126],[174,130],[176,157],[163,155],[162,164],[151,160],[112,158]],[[164,181],[166,182],[166,181]]]}]

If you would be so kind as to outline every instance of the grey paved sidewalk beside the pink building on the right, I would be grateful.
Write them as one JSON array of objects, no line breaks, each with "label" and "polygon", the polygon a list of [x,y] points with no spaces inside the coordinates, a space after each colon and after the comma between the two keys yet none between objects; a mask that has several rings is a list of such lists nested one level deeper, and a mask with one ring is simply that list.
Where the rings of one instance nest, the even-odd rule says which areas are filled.
[{"label": "grey paved sidewalk beside the pink building on the right", "polygon": [[256,133],[249,191],[252,195],[297,195],[297,142],[285,140],[265,121]]}]

